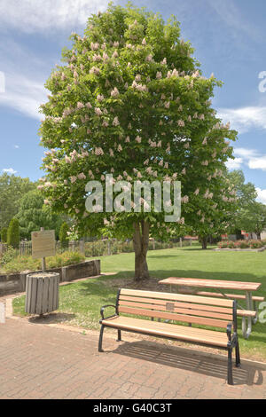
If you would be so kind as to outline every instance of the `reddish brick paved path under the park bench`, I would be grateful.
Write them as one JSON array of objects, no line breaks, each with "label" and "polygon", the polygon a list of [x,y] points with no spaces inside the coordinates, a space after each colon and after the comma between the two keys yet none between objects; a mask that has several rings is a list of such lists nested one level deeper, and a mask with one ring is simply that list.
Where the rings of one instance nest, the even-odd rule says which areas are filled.
[{"label": "reddish brick paved path under the park bench", "polygon": [[[132,342],[133,341],[133,342]],[[226,358],[162,343],[7,319],[0,324],[0,398],[266,398],[266,366],[244,364],[228,386]]]}]

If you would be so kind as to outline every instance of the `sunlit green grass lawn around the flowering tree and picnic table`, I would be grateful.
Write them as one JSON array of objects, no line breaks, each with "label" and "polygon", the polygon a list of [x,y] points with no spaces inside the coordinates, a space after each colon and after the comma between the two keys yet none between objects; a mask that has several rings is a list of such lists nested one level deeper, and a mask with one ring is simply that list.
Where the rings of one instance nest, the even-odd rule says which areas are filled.
[{"label": "sunlit green grass lawn around the flowering tree and picnic table", "polygon": [[[262,282],[256,295],[266,295],[266,252],[203,251],[195,245],[150,251],[148,264],[151,279],[144,285],[133,281],[133,253],[102,256],[100,259],[102,272],[113,272],[113,275],[61,286],[59,314],[51,315],[53,320],[64,321],[72,326],[99,329],[100,307],[115,303],[119,287],[168,292],[169,287],[161,286],[157,281],[169,276]],[[24,303],[25,296],[14,299],[14,314],[25,315]],[[112,310],[110,312],[113,314]],[[266,314],[264,317],[266,319]],[[243,357],[266,361],[266,323],[257,322],[249,339],[245,340],[242,338],[239,319],[239,343]]]}]

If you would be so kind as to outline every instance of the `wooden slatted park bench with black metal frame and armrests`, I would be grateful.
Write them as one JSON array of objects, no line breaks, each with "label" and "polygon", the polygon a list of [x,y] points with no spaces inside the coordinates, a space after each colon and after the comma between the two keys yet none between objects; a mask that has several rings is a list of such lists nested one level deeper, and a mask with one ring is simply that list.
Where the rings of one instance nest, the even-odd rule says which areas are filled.
[{"label": "wooden slatted park bench with black metal frame and armrests", "polygon": [[[107,307],[115,309],[112,316],[105,317],[104,312]],[[131,316],[124,316],[121,313]],[[121,288],[116,297],[116,304],[103,306],[100,314],[102,319],[100,319],[99,352],[103,351],[102,342],[105,327],[113,327],[118,330],[117,340],[119,342],[121,341],[121,330],[125,330],[211,346],[227,350],[227,382],[232,385],[232,350],[234,348],[236,366],[240,366],[236,300]],[[144,316],[152,320],[139,319],[134,316]],[[155,321],[154,319],[174,320],[178,324]],[[185,323],[188,326],[184,326]],[[192,324],[218,327],[219,331],[192,327]]]}]

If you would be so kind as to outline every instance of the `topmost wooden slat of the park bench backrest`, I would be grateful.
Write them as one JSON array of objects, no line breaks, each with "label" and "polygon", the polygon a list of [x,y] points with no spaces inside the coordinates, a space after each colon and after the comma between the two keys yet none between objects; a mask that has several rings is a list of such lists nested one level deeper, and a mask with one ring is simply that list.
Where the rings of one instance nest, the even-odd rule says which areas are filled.
[{"label": "topmost wooden slat of the park bench backrest", "polygon": [[160,300],[168,301],[184,301],[188,303],[200,303],[208,305],[218,305],[223,307],[231,307],[233,305],[232,300],[227,300],[223,298],[210,298],[203,297],[200,295],[184,295],[184,294],[174,294],[174,293],[159,293],[155,291],[142,291],[135,289],[122,288],[121,295],[133,295],[140,296],[144,298],[158,298]]}]

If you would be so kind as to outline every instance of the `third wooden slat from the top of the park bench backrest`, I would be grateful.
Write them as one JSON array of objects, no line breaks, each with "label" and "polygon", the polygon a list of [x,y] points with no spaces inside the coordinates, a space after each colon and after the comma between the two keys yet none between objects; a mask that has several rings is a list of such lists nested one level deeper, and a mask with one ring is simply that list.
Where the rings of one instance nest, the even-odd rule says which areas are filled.
[{"label": "third wooden slat from the top of the park bench backrest", "polygon": [[[180,312],[184,314],[192,314],[194,316],[202,316],[202,317],[211,317],[213,319],[226,319],[231,321],[232,320],[232,314],[231,311],[227,314],[225,312],[216,312],[211,309],[211,306],[207,306],[209,308],[209,311],[206,311],[205,309],[197,309],[197,307],[201,307],[200,304],[188,304],[184,303],[185,305],[182,305],[182,303],[179,303],[178,306],[176,306],[176,303],[173,304],[173,309],[169,309],[167,302],[164,305],[156,305],[156,304],[146,304],[146,303],[133,303],[129,301],[120,301],[120,305],[128,306],[128,307],[140,307],[142,309],[149,309],[149,310],[155,310],[155,311],[173,311],[173,312]],[[228,310],[228,309],[226,309]]]}]

